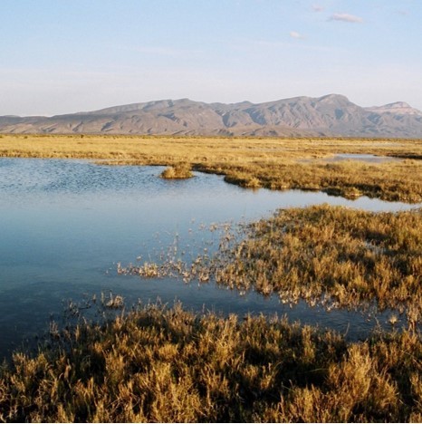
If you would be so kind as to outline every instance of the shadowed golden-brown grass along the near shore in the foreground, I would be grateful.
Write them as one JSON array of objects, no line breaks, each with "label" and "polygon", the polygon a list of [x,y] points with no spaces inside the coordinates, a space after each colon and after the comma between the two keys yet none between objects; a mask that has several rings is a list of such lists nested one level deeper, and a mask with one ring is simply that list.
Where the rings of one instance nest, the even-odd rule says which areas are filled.
[{"label": "shadowed golden-brown grass along the near shore in the foreground", "polygon": [[422,418],[414,332],[345,342],[248,316],[139,307],[0,369],[0,420],[406,422]]}]

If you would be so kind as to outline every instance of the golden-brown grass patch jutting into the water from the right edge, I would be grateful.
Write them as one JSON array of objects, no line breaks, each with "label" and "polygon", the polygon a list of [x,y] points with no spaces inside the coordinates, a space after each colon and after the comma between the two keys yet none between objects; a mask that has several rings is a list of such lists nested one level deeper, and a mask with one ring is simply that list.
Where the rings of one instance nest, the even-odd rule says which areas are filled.
[{"label": "golden-brown grass patch jutting into the water from the right edge", "polygon": [[277,293],[283,302],[376,302],[408,313],[410,322],[422,318],[422,209],[283,209],[249,226],[245,239],[220,255],[220,284]]}]

